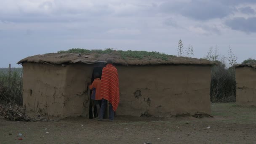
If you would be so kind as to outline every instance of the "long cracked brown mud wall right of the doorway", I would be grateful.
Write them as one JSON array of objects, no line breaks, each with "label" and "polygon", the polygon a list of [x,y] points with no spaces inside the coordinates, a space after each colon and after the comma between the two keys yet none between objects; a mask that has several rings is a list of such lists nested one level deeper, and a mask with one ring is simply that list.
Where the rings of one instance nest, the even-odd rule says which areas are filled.
[{"label": "long cracked brown mud wall right of the doorway", "polygon": [[211,67],[197,65],[117,66],[118,115],[211,113]]}]

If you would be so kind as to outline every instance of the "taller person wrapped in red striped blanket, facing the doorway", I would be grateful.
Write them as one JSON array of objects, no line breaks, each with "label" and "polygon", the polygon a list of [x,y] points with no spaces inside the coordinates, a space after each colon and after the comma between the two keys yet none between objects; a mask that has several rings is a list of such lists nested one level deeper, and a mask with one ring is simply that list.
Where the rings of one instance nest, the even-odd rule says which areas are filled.
[{"label": "taller person wrapped in red striped blanket, facing the doorway", "polygon": [[119,104],[119,80],[117,69],[112,60],[107,61],[107,66],[102,69],[101,76],[101,112],[99,121],[103,120],[107,101],[109,101],[109,121],[114,120],[114,113]]}]

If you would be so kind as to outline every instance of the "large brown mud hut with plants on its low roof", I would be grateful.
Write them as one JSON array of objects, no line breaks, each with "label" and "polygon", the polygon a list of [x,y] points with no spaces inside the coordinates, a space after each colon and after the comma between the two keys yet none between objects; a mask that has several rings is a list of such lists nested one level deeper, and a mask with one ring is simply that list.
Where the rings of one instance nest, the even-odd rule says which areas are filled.
[{"label": "large brown mud hut with plants on its low roof", "polygon": [[89,116],[88,83],[113,59],[120,83],[118,115],[169,117],[211,113],[210,61],[176,56],[126,57],[108,54],[50,53],[30,56],[23,66],[27,111],[59,117]]}]

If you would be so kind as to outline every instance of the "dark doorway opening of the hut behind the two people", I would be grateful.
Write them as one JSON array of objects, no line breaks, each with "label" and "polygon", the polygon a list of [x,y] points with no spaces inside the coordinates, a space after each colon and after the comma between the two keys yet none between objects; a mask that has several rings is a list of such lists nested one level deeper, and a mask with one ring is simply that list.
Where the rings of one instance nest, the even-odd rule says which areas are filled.
[{"label": "dark doorway opening of the hut behind the two people", "polygon": [[[95,68],[93,69],[93,74],[92,74],[92,76],[91,76],[91,83],[93,83],[93,81],[94,81],[94,74],[95,74],[95,73],[99,73],[100,79],[101,79],[102,69],[103,69],[103,67],[101,67],[101,66],[95,67]],[[90,98],[91,98],[91,93],[92,93],[92,91],[90,91]],[[100,104],[100,107],[101,107],[101,101],[99,101],[99,104]],[[108,117],[107,114],[108,114],[108,108],[105,109],[104,118],[107,118],[107,117]],[[95,117],[99,117],[99,114],[97,113],[97,107],[96,107],[96,106],[94,106],[94,116],[95,116]],[[93,118],[92,109],[91,109],[91,99],[90,99],[90,107],[89,107],[89,118],[90,118],[90,119]]]}]

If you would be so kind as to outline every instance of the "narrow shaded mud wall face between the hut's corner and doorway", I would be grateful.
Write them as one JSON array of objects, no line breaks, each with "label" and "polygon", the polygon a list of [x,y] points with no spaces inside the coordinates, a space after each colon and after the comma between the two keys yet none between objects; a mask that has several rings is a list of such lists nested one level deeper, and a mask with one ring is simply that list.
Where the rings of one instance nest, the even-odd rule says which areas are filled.
[{"label": "narrow shaded mud wall face between the hut's corner and doorway", "polygon": [[67,97],[64,115],[89,117],[88,83],[91,83],[93,64],[67,65],[64,96]]}]

